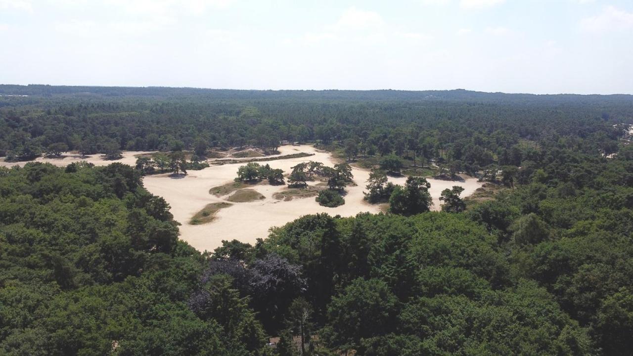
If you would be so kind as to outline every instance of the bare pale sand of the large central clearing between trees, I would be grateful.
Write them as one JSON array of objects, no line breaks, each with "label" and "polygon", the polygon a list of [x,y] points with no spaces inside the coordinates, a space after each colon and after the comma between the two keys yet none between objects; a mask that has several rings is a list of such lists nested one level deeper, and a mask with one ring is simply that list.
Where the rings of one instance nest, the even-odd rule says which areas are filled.
[{"label": "bare pale sand of the large central clearing between trees", "polygon": [[[281,168],[285,173],[291,171],[298,163],[316,161],[333,166],[336,162],[329,153],[317,151],[313,146],[282,146],[279,148],[281,155],[306,152],[315,153],[313,156],[291,158],[287,160],[273,160],[268,163],[272,168]],[[187,241],[197,250],[212,251],[222,245],[222,240],[237,239],[245,243],[255,243],[257,238],[266,238],[268,229],[273,226],[282,226],[303,215],[327,212],[330,215],[349,217],[360,212],[378,213],[380,208],[370,205],[363,200],[363,191],[369,178],[369,171],[353,168],[354,181],[358,186],[348,186],[345,196],[345,204],[341,207],[327,208],[316,203],[314,197],[291,201],[280,201],[272,198],[285,188],[285,186],[270,186],[261,184],[251,187],[266,198],[248,203],[234,203],[231,207],[223,208],[216,213],[216,219],[209,224],[190,225],[189,220],[205,205],[218,201],[224,201],[223,196],[217,198],[209,194],[209,189],[232,182],[237,176],[237,168],[243,163],[211,165],[203,170],[192,170],[184,178],[173,179],[168,175],[152,175],[145,177],[144,184],[151,193],[165,198],[172,207],[171,211],[175,220],[179,221],[180,238]],[[391,181],[404,183],[406,178],[390,179]],[[462,196],[472,194],[475,189],[482,186],[476,179],[467,179],[465,182],[438,181],[429,179],[430,193],[434,198],[434,209],[439,209],[439,195],[443,189],[452,186],[465,188]],[[311,184],[315,184],[311,182]]]}]

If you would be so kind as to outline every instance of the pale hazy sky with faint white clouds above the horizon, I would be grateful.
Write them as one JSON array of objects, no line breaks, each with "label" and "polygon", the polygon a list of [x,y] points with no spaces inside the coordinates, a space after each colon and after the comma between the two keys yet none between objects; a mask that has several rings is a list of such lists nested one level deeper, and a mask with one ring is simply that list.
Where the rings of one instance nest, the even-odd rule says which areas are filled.
[{"label": "pale hazy sky with faint white clouds above the horizon", "polygon": [[0,0],[0,83],[633,94],[633,0]]}]

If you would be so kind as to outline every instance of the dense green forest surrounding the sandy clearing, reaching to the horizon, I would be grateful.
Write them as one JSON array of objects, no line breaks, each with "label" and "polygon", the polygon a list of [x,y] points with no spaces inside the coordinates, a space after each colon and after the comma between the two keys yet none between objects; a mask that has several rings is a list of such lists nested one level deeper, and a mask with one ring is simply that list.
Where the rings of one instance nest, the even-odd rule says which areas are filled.
[{"label": "dense green forest surrounding the sandy clearing, reaching to the horizon", "polygon": [[[0,353],[631,355],[630,96],[0,93],[0,148],[14,160],[51,144],[204,154],[288,140],[391,173],[433,163],[505,187],[467,205],[448,191],[458,208],[444,212],[403,200],[378,215],[307,215],[254,246],[202,254],[177,239],[139,169],[3,168]],[[390,189],[423,191],[410,181]]]}]

